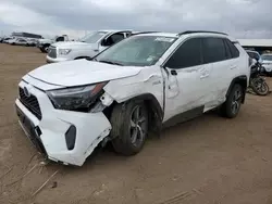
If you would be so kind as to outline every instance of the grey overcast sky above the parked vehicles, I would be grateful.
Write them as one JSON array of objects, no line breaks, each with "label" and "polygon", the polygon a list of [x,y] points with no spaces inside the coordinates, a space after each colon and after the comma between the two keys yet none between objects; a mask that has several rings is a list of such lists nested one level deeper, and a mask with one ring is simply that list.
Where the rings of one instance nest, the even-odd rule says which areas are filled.
[{"label": "grey overcast sky above the parked vehicles", "polygon": [[272,0],[0,0],[0,31],[212,29],[272,38]]}]

